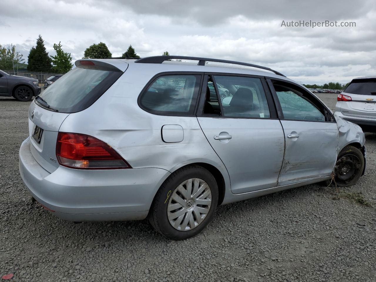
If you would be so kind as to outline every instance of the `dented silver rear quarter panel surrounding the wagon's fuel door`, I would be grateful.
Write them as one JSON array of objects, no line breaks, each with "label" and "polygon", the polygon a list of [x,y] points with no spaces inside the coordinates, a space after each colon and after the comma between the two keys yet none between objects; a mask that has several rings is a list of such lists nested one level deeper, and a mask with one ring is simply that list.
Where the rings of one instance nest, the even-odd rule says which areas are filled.
[{"label": "dented silver rear quarter panel surrounding the wagon's fuel door", "polygon": [[[140,70],[133,71],[141,65]],[[60,131],[95,136],[114,147],[133,168],[163,168],[170,172],[186,164],[205,162],[221,171],[228,188],[226,168],[205,138],[196,117],[150,114],[139,108],[137,98],[156,74],[143,64],[130,64],[111,88],[88,109],[70,114]],[[87,122],[86,122],[87,121]],[[183,140],[165,143],[162,126],[183,128]]]}]

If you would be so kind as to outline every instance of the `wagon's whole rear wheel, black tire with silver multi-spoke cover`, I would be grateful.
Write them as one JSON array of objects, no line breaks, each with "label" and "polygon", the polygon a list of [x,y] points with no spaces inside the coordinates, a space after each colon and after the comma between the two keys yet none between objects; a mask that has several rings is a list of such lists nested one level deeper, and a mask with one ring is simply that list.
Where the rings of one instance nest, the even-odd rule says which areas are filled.
[{"label": "wagon's whole rear wheel, black tire with silver multi-spoke cover", "polygon": [[205,168],[189,165],[171,174],[159,188],[149,212],[156,231],[173,240],[200,233],[218,204],[218,185]]}]

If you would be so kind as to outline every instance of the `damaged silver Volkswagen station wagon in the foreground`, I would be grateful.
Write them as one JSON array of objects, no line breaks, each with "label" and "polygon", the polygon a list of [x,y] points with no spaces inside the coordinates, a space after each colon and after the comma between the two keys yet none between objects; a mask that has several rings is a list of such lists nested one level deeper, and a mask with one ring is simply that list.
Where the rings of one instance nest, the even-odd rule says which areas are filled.
[{"label": "damaged silver Volkswagen station wagon in the foreground", "polygon": [[353,185],[364,142],[358,125],[267,67],[82,59],[31,103],[19,166],[32,199],[59,218],[149,218],[182,240],[218,205],[331,179]]}]

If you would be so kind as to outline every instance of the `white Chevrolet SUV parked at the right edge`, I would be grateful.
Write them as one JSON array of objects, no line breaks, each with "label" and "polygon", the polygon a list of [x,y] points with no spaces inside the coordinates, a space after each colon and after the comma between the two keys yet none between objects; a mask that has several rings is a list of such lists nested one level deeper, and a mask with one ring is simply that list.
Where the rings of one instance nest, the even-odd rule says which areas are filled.
[{"label": "white Chevrolet SUV parked at the right edge", "polygon": [[365,131],[376,131],[376,76],[353,79],[338,94],[335,114]]}]

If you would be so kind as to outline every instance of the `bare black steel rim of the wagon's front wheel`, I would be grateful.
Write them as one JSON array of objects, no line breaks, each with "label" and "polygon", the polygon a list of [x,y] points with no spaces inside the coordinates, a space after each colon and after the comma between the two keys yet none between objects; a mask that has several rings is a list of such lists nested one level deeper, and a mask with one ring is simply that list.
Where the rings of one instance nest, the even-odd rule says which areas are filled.
[{"label": "bare black steel rim of the wagon's front wheel", "polygon": [[354,179],[361,167],[359,158],[353,154],[347,154],[338,159],[335,166],[336,183],[345,185]]}]

